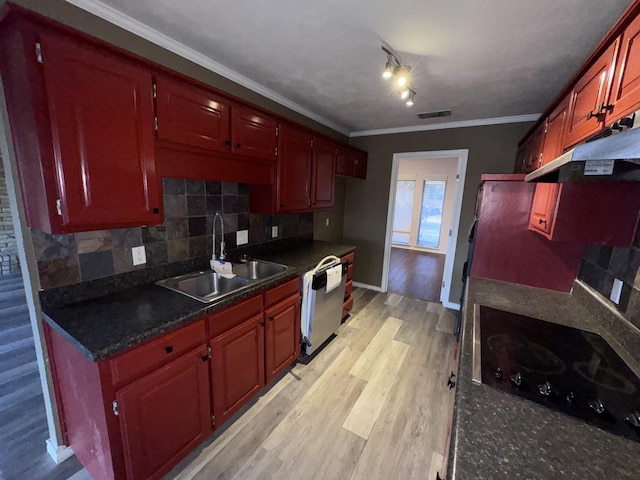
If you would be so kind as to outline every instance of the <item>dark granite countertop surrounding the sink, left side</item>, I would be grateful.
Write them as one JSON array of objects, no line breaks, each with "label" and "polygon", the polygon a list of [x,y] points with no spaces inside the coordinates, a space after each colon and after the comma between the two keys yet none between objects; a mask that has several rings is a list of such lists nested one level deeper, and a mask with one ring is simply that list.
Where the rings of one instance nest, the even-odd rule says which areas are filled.
[{"label": "dark granite countertop surrounding the sink, left side", "polygon": [[289,268],[211,304],[148,283],[65,305],[43,301],[42,309],[45,319],[57,332],[90,360],[98,361],[303,275],[326,255],[343,256],[354,250],[353,245],[310,241],[285,251],[256,254],[256,258],[282,263]]}]

